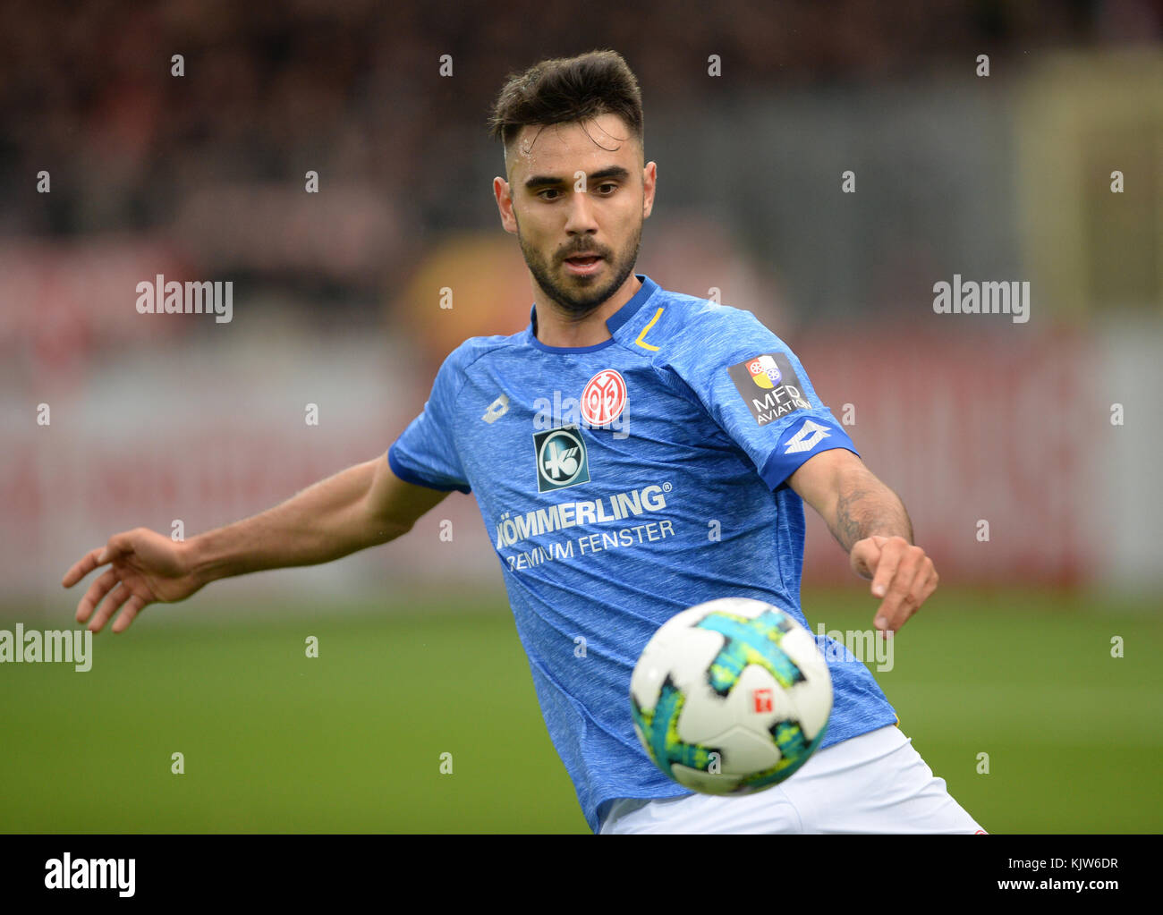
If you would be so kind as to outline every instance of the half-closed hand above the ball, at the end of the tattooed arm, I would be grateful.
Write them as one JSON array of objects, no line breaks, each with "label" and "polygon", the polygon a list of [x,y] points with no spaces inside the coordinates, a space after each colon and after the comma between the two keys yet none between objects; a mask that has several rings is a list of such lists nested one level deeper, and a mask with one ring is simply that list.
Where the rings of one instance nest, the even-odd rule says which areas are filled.
[{"label": "half-closed hand above the ball, at the end of the tattooed arm", "polygon": [[852,571],[872,579],[872,596],[882,598],[873,624],[896,632],[937,587],[937,571],[925,550],[904,537],[873,535],[852,544]]}]

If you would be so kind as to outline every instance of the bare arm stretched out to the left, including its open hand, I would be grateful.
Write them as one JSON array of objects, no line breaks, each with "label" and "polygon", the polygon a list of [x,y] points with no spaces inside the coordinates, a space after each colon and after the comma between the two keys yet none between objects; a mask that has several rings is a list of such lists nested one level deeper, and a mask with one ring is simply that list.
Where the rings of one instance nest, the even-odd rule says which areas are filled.
[{"label": "bare arm stretched out to the left, including its open hand", "polygon": [[121,632],[148,605],[185,600],[220,578],[329,563],[386,543],[411,530],[445,495],[405,482],[380,456],[328,477],[259,515],[184,543],[147,528],[114,534],[104,546],[81,557],[60,584],[72,587],[94,569],[109,564],[77,605],[77,622],[85,623],[92,616],[88,628],[97,632],[124,607],[113,624],[113,631]]}]

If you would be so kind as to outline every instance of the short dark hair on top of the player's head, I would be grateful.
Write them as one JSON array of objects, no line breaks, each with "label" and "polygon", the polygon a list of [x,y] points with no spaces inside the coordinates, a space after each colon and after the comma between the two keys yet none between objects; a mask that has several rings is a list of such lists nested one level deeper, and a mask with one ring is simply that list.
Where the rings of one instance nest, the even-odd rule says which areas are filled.
[{"label": "short dark hair on top of the player's head", "polygon": [[542,60],[511,73],[488,119],[488,133],[512,148],[521,128],[586,121],[616,114],[642,143],[642,94],[618,51]]}]

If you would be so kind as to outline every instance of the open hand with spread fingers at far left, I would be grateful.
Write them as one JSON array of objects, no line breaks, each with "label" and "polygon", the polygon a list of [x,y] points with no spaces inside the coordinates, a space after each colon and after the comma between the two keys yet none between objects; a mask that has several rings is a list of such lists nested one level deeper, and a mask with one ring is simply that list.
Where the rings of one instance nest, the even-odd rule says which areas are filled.
[{"label": "open hand with spread fingers at far left", "polygon": [[187,555],[185,543],[135,528],[114,534],[105,546],[87,552],[65,572],[60,584],[72,587],[94,569],[109,564],[77,605],[77,622],[88,621],[90,631],[99,632],[123,607],[113,623],[114,632],[123,632],[148,605],[184,600],[202,586],[192,574]]}]

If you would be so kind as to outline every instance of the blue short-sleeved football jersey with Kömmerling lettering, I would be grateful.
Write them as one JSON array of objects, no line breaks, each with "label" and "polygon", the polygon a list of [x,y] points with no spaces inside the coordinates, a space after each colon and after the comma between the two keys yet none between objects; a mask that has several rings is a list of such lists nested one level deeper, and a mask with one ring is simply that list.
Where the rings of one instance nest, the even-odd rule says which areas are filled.
[{"label": "blue short-sleeved football jersey with K\u00f6mmerling lettering", "polygon": [[[638,279],[604,343],[547,346],[535,309],[520,334],[462,343],[387,456],[404,480],[476,495],[545,725],[594,831],[616,799],[690,793],[634,732],[630,673],[647,642],[723,596],[807,626],[804,503],[786,479],[821,451],[856,451],[750,312]],[[897,721],[868,669],[830,649],[821,749]]]}]

